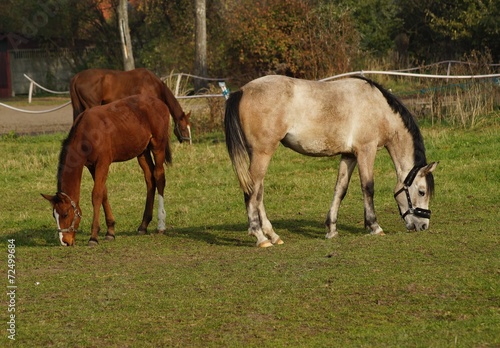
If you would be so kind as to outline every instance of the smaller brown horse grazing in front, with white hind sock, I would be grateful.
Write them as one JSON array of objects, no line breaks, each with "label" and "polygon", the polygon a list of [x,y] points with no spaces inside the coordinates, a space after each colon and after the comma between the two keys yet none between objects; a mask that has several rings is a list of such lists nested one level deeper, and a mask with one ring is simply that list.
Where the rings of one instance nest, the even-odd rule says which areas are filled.
[{"label": "smaller brown horse grazing in front, with white hind sock", "polygon": [[151,222],[156,189],[158,232],[165,231],[163,163],[172,160],[169,110],[157,98],[134,95],[86,110],[77,117],[63,142],[57,172],[57,193],[53,196],[42,194],[52,205],[62,245],[75,243],[81,219],[79,201],[84,166],[94,179],[94,213],[89,245],[98,243],[101,204],[106,218],[106,239],[115,238],[115,218],[108,201],[106,178],[112,162],[128,161],[134,157],[144,171],[147,186],[146,206],[138,231],[146,233]]}]

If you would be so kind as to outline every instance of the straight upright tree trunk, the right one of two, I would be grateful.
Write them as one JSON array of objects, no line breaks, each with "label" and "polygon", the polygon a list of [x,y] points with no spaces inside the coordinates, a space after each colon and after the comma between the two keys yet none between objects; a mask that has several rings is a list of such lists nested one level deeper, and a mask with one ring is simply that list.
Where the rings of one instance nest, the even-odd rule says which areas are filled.
[{"label": "straight upright tree trunk, the right one of two", "polygon": [[[195,74],[198,76],[207,76],[207,15],[206,0],[195,0],[196,23],[195,23]],[[207,88],[205,80],[195,79],[195,91]]]}]

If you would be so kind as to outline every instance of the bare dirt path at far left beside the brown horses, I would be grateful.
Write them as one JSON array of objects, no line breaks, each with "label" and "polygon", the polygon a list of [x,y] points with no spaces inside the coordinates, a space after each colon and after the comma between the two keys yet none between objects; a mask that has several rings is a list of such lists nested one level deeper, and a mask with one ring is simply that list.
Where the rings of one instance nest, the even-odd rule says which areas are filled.
[{"label": "bare dirt path at far left beside the brown horses", "polygon": [[[24,110],[49,110],[57,105],[20,106]],[[0,105],[0,134],[16,132],[18,134],[41,134],[67,132],[73,123],[71,105],[44,114],[27,114],[8,109]]]}]

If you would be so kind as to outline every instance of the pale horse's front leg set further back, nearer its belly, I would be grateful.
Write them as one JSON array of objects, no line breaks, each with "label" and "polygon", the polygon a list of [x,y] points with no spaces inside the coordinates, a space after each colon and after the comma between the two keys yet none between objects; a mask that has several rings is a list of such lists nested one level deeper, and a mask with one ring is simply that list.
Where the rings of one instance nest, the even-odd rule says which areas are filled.
[{"label": "pale horse's front leg set further back, nearer its belly", "polygon": [[356,157],[351,155],[342,155],[340,158],[339,172],[337,175],[337,183],[333,194],[333,201],[330,210],[326,216],[325,225],[327,228],[326,238],[330,239],[338,236],[337,217],[340,209],[340,203],[347,194],[347,188],[351,180],[352,172],[356,167]]}]

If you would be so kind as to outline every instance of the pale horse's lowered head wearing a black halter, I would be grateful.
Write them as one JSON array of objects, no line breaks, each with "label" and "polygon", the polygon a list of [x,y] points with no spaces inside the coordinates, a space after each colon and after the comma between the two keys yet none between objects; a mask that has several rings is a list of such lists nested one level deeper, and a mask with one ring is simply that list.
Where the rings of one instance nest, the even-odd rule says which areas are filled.
[{"label": "pale horse's lowered head wearing a black halter", "polygon": [[438,162],[432,162],[423,167],[415,166],[404,182],[396,185],[394,198],[408,230],[423,231],[429,228],[429,201],[434,191],[432,172],[437,165]]}]

